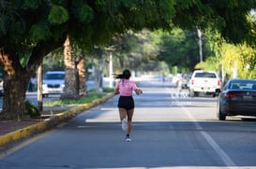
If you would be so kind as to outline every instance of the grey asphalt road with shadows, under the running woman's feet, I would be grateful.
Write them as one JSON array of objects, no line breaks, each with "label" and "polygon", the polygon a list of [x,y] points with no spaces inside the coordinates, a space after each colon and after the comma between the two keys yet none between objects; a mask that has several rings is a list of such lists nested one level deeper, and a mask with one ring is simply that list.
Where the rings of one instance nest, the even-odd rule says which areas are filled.
[{"label": "grey asphalt road with shadows, under the running woman's feet", "polygon": [[256,168],[256,122],[216,118],[216,98],[189,98],[166,84],[142,84],[131,142],[118,97],[56,129],[2,150],[0,168]]}]

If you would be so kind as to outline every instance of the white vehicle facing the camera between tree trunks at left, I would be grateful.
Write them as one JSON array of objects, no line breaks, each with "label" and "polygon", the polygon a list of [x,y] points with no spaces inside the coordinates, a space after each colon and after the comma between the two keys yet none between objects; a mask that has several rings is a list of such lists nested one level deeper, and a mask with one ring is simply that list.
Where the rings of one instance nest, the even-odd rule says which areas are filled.
[{"label": "white vehicle facing the camera between tree trunks at left", "polygon": [[42,80],[42,95],[62,93],[65,85],[64,71],[48,71]]}]

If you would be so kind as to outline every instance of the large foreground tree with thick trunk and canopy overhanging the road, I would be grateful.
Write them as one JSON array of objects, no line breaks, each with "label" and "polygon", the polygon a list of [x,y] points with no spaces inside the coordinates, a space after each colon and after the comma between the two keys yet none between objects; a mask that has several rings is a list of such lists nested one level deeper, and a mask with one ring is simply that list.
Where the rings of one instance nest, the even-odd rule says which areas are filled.
[{"label": "large foreground tree with thick trunk and canopy overhanging the road", "polygon": [[[233,41],[248,37],[248,11],[254,0],[2,0],[0,3],[0,64],[5,74],[1,117],[23,117],[25,91],[43,57],[70,38],[91,48],[127,30],[216,28]],[[221,6],[220,6],[221,5]]]}]

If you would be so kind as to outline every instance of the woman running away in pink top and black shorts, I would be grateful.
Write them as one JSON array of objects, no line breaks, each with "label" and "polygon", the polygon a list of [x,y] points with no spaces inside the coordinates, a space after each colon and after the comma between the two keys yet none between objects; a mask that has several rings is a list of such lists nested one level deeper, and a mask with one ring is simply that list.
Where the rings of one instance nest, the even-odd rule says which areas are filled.
[{"label": "woman running away in pink top and black shorts", "polygon": [[137,95],[140,95],[142,90],[138,89],[135,81],[130,80],[130,71],[128,69],[123,71],[123,74],[114,75],[115,78],[120,78],[115,85],[115,94],[120,94],[118,99],[119,116],[122,122],[122,129],[127,131],[126,141],[131,141],[130,132],[132,128],[132,116],[134,113],[134,100],[132,92],[134,91]]}]

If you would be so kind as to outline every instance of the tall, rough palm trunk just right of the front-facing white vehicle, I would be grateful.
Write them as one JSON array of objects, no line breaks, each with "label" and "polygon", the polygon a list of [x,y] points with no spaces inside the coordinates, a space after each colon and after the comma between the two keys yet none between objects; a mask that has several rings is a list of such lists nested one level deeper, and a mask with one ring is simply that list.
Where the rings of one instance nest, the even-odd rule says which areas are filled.
[{"label": "tall, rough palm trunk just right of the front-facing white vehicle", "polygon": [[72,47],[68,37],[64,44],[64,63],[65,87],[61,99],[77,99],[79,98],[78,71],[76,69],[76,63],[72,58]]}]

